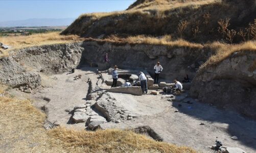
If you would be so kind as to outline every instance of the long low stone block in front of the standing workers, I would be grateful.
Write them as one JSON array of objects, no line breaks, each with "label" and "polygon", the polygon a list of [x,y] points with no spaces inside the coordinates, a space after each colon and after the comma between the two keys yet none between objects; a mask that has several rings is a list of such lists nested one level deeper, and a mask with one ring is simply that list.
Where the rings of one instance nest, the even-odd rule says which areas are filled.
[{"label": "long low stone block in front of the standing workers", "polygon": [[115,87],[108,89],[107,92],[115,92],[115,93],[127,93],[132,95],[142,95],[141,87],[133,86],[133,87]]}]

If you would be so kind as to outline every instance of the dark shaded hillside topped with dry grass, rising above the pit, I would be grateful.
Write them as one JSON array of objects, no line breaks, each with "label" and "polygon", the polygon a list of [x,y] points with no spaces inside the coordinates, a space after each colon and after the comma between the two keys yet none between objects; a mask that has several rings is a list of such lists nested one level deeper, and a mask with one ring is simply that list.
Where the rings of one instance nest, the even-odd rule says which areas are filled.
[{"label": "dark shaded hillside topped with dry grass, rising above the pit", "polygon": [[205,43],[256,39],[255,1],[136,1],[126,11],[83,14],[61,34],[102,38],[171,35]]}]

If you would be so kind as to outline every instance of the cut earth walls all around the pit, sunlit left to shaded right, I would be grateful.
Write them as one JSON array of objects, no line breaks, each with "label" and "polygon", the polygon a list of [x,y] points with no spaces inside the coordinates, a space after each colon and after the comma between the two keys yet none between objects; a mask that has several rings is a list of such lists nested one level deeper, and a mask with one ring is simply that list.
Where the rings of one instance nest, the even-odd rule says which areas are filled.
[{"label": "cut earth walls all around the pit, sunlit left to shaded right", "polygon": [[[43,45],[13,50],[8,58],[0,59],[0,82],[11,87],[40,86],[40,73],[61,73],[82,63],[104,69],[104,55],[110,65],[120,68],[145,69],[154,74],[157,61],[164,67],[161,78],[182,80],[189,74],[193,80],[190,94],[204,103],[235,109],[256,118],[255,53],[238,52],[215,66],[196,71],[213,51],[206,48],[147,44],[117,44],[85,41],[68,44]],[[109,66],[109,65],[108,65]]]}]

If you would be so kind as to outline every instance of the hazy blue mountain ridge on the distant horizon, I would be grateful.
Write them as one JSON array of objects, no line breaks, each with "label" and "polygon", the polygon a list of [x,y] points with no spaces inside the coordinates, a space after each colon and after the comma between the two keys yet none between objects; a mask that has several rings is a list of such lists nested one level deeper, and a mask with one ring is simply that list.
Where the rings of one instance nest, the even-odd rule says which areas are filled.
[{"label": "hazy blue mountain ridge on the distant horizon", "polygon": [[71,24],[75,18],[31,18],[26,20],[0,21],[0,27],[43,27]]}]

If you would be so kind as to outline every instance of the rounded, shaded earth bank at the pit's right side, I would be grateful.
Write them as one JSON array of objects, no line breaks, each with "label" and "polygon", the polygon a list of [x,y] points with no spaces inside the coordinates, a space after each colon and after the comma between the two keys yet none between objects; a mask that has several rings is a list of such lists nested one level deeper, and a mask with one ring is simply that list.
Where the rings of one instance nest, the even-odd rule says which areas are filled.
[{"label": "rounded, shaded earth bank at the pit's right side", "polygon": [[256,53],[232,54],[216,66],[198,72],[190,95],[256,119]]}]

